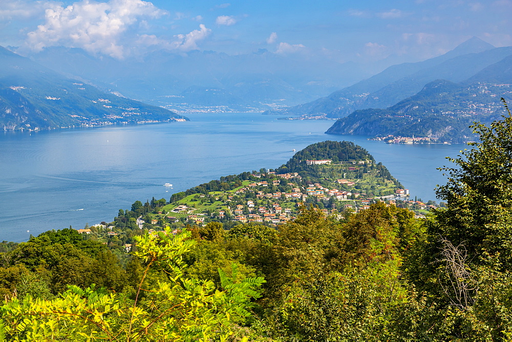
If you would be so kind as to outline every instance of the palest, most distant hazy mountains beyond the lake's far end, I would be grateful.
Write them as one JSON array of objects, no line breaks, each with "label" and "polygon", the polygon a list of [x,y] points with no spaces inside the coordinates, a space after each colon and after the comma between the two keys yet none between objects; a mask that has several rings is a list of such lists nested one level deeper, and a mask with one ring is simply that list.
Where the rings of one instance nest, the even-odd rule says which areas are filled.
[{"label": "palest, most distant hazy mountains beyond the lake's far end", "polygon": [[102,90],[177,111],[264,111],[314,100],[371,76],[354,62],[285,57],[265,49],[239,55],[159,50],[119,60],[53,47],[30,58]]}]

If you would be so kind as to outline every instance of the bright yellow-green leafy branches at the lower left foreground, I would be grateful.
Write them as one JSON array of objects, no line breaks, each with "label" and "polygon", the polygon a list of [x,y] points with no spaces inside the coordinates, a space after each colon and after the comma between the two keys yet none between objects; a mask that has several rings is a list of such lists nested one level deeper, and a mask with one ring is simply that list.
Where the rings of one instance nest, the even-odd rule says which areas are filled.
[{"label": "bright yellow-green leafy branches at the lower left foreground", "polygon": [[262,277],[237,279],[221,274],[223,291],[211,281],[183,276],[183,253],[196,243],[190,232],[174,236],[170,230],[138,239],[137,257],[146,263],[146,274],[160,269],[168,281],[139,291],[150,293],[135,303],[91,286],[69,286],[55,300],[14,297],[0,306],[3,340],[208,340],[225,339],[234,323],[247,316],[251,297]]}]

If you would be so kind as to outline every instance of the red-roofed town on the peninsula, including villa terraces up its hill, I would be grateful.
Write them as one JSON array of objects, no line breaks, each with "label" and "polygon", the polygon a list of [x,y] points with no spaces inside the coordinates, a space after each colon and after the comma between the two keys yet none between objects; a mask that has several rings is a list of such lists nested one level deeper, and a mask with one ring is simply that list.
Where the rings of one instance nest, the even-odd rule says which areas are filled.
[{"label": "red-roofed town on the peninsula, including villa terraces up its hill", "polygon": [[[205,227],[211,222],[220,222],[225,229],[238,224],[277,227],[294,220],[303,208],[309,206],[316,207],[326,217],[342,220],[350,213],[369,209],[372,203],[380,201],[387,206],[414,210],[417,218],[423,218],[437,208],[434,201],[412,200],[409,190],[396,187],[393,180],[379,180],[382,188],[378,190],[379,196],[375,193],[371,196],[368,189],[375,188],[375,185],[368,184],[376,181],[377,169],[372,160],[334,162],[332,159],[307,159],[301,163],[322,172],[334,169],[337,174],[353,177],[324,178],[312,182],[297,172],[279,174],[276,170],[261,170],[247,174],[247,179],[242,181],[232,176],[231,183],[238,186],[231,189],[202,189],[176,201],[171,198],[170,202],[154,198],[144,204],[136,201],[132,210],[121,209],[113,222],[86,226],[78,232],[94,234],[110,247],[117,245],[124,251],[130,251],[134,243],[132,229],[151,233],[169,226],[173,228],[172,233],[177,234],[187,225]],[[360,176],[361,172],[362,177],[354,177]]]}]

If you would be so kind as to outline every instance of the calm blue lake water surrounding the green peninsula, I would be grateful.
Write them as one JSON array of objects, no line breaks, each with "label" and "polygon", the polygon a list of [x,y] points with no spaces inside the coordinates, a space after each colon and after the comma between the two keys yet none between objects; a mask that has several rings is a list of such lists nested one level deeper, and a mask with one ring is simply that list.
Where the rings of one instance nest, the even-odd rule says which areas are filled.
[{"label": "calm blue lake water surrounding the green peninsula", "polygon": [[275,168],[293,155],[292,149],[325,140],[365,147],[413,198],[426,201],[435,199],[434,187],[445,182],[436,167],[465,147],[326,135],[332,120],[246,113],[187,116],[192,121],[0,134],[0,241],[111,222],[136,200],[169,200],[173,193],[221,176]]}]

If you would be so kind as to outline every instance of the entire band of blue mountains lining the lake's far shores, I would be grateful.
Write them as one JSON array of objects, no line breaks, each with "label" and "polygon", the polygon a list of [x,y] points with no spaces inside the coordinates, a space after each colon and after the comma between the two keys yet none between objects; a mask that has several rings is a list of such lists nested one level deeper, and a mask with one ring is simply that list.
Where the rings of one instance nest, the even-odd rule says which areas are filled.
[{"label": "entire band of blue mountains lining the lake's far shores", "polygon": [[[476,37],[441,56],[394,65],[358,82],[365,71],[356,63],[319,66],[300,57],[291,63],[266,50],[245,55],[160,50],[119,60],[75,48],[47,48],[30,59],[1,49],[0,62],[4,129],[184,119],[165,109],[269,109],[265,114],[343,118],[328,131],[333,134],[453,141],[471,138],[472,120],[501,113],[499,99],[509,94],[503,84],[512,83],[512,47],[495,48]],[[317,98],[343,83],[354,84]]]}]

